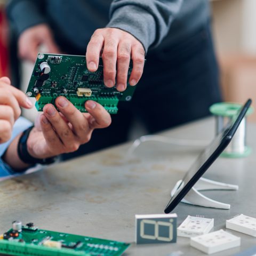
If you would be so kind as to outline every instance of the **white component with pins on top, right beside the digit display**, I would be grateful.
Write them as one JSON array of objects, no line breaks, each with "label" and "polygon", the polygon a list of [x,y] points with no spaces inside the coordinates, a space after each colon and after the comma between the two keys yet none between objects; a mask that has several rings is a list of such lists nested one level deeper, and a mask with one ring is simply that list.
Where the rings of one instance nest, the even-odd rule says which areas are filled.
[{"label": "white component with pins on top, right beside the digit display", "polygon": [[214,219],[202,217],[188,217],[181,223],[177,229],[177,235],[183,237],[193,237],[207,234],[214,226]]}]

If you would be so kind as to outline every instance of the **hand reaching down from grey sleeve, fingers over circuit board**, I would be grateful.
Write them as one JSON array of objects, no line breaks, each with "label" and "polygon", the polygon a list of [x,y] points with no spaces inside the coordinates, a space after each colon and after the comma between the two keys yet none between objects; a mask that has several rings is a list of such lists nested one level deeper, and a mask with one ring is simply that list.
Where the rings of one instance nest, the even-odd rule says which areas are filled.
[{"label": "hand reaching down from grey sleeve, fingers over circuit board", "polygon": [[[117,28],[95,30],[86,51],[87,68],[90,71],[98,69],[101,51],[104,66],[104,83],[107,87],[113,87],[117,84],[118,91],[126,89],[131,58],[133,69],[129,83],[132,86],[138,83],[142,76],[145,62],[145,50],[138,39]],[[115,81],[116,79],[117,81]]]}]

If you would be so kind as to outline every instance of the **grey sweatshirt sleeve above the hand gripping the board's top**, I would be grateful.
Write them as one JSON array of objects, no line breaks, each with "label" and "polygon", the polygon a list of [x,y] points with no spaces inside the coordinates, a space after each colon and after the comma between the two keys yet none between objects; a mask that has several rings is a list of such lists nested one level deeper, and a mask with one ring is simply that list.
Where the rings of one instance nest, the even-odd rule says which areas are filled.
[{"label": "grey sweatshirt sleeve above the hand gripping the board's top", "polygon": [[107,27],[125,30],[147,51],[156,47],[168,33],[183,0],[114,0]]}]

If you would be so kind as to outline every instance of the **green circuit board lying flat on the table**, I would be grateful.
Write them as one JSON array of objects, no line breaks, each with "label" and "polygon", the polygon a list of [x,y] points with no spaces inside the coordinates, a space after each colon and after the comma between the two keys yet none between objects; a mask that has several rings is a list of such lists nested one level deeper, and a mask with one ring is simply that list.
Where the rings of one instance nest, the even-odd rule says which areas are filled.
[{"label": "green circuit board lying flat on the table", "polygon": [[0,237],[0,254],[31,256],[119,256],[130,244],[38,229],[33,223]]}]

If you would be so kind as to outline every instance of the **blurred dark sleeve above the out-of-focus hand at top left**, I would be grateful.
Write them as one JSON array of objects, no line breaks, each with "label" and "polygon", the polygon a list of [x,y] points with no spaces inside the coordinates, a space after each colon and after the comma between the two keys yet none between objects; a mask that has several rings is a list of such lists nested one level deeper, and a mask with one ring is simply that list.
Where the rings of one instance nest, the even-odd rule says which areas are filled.
[{"label": "blurred dark sleeve above the out-of-focus hand at top left", "polygon": [[[35,25],[46,23],[42,10],[44,8],[44,1],[35,0],[10,0],[7,5],[7,17],[13,22],[18,35],[23,30],[33,27]],[[24,17],[26,13],[26,18]]]}]

